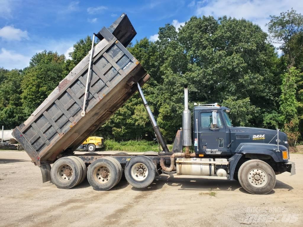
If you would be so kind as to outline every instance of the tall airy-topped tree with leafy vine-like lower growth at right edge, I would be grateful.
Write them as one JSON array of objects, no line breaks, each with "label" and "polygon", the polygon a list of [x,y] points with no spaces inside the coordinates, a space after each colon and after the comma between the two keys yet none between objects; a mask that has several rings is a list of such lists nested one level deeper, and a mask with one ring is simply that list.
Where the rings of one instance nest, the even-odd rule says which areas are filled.
[{"label": "tall airy-topped tree with leafy vine-like lower growth at right edge", "polygon": [[281,96],[278,122],[288,134],[290,144],[294,145],[303,133],[303,15],[294,9],[271,16],[268,23],[271,39],[281,44],[283,51],[280,75]]}]

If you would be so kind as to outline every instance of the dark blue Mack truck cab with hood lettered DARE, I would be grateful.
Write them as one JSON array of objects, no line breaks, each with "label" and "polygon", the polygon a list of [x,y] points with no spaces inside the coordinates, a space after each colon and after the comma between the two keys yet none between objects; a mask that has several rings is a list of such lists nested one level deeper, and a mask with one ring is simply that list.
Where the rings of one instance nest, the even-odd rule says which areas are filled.
[{"label": "dark blue Mack truck cab with hood lettered DARE", "polygon": [[217,103],[198,104],[194,107],[196,154],[228,159],[231,167],[230,179],[237,178],[239,165],[250,159],[265,161],[276,174],[285,171],[295,173],[294,164],[288,162],[288,141],[285,133],[263,128],[234,127],[228,116],[230,111]]}]

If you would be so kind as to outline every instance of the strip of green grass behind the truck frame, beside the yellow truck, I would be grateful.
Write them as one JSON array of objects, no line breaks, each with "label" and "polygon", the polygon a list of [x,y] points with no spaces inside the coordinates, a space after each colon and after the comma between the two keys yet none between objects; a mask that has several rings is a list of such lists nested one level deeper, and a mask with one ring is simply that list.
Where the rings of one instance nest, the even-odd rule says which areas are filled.
[{"label": "strip of green grass behind the truck frame, beside the yellow truck", "polygon": [[[162,149],[162,148],[161,148]],[[168,149],[172,149],[172,145],[168,145]],[[115,140],[105,140],[103,150],[119,150],[128,152],[145,152],[145,151],[159,151],[157,142],[147,140],[129,140],[117,142]]]}]

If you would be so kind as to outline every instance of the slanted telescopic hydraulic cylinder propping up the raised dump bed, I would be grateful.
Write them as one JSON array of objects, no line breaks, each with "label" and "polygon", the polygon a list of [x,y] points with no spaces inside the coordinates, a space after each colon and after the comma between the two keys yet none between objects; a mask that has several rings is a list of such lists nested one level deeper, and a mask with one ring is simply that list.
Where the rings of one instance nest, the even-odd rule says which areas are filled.
[{"label": "slanted telescopic hydraulic cylinder propping up the raised dump bed", "polygon": [[153,126],[154,131],[155,131],[155,134],[156,134],[156,136],[157,136],[157,139],[158,139],[159,143],[161,144],[161,147],[162,147],[163,151],[164,151],[164,152],[169,152],[169,150],[168,150],[168,148],[167,148],[167,146],[166,146],[166,143],[165,143],[165,141],[164,141],[164,138],[163,138],[163,136],[162,136],[162,133],[160,132],[160,128],[159,128],[159,126],[157,125],[157,122],[156,122],[156,120],[155,120],[155,117],[154,117],[154,115],[153,115],[152,112],[151,112],[151,108],[149,107],[149,105],[148,105],[148,103],[147,103],[147,101],[146,101],[146,99],[145,99],[145,97],[144,97],[144,94],[143,94],[143,92],[142,92],[142,90],[141,90],[141,87],[140,87],[140,84],[139,84],[139,83],[137,83],[137,87],[138,87],[139,95],[140,95],[140,97],[141,97],[141,99],[142,99],[142,102],[143,102],[144,107],[145,107],[145,109],[146,109],[146,112],[147,112],[147,114],[148,114],[148,117],[149,117],[149,119],[151,120],[151,124],[152,124],[152,126]]}]

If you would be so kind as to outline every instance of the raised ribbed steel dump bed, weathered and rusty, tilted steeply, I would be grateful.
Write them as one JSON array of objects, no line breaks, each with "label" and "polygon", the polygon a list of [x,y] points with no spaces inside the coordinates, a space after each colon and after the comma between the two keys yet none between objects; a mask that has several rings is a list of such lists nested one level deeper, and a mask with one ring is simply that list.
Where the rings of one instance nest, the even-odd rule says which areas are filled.
[{"label": "raised ribbed steel dump bed, weathered and rusty, tilted steeply", "polygon": [[53,163],[64,151],[75,150],[136,92],[136,83],[143,85],[149,78],[124,47],[129,39],[121,43],[107,28],[102,28],[100,35],[103,39],[93,52],[85,117],[81,111],[89,54],[13,132],[38,166]]}]

